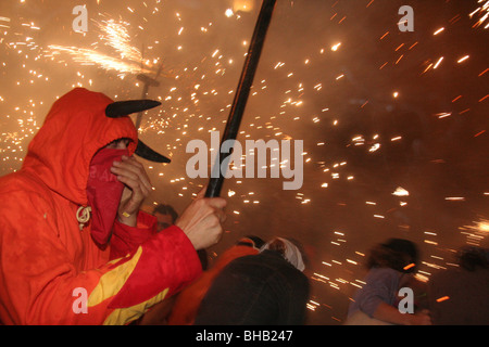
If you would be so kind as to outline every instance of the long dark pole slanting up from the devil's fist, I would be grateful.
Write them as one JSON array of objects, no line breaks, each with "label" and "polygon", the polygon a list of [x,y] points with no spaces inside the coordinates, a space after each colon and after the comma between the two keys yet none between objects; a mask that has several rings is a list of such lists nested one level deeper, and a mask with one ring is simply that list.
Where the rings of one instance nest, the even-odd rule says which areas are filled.
[{"label": "long dark pole slanting up from the devil's fist", "polygon": [[[260,55],[262,53],[266,31],[268,29],[269,22],[272,21],[275,3],[276,0],[263,0],[221,144],[226,140],[236,140],[238,134],[241,118],[250,94],[251,85],[253,83],[253,78],[256,73]],[[205,197],[220,196],[224,181],[221,165],[231,154],[231,152],[233,149],[230,149],[228,153],[222,154],[221,146],[217,149],[217,160],[214,165],[218,165],[218,168],[215,168],[215,171],[218,171],[218,177],[211,177],[205,191]],[[214,168],[212,168],[212,170],[214,171]]]}]

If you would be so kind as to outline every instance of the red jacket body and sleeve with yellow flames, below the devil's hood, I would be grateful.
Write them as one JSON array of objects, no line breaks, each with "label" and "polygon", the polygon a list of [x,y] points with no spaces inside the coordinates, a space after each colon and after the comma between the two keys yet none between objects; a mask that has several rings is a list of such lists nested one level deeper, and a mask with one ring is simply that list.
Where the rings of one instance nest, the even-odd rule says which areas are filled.
[{"label": "red jacket body and sleeve with yellow flames, below the devil's hood", "polygon": [[193,246],[176,227],[126,257],[79,271],[66,244],[82,248],[83,244],[76,236],[61,241],[57,222],[62,221],[46,216],[47,206],[40,194],[32,192],[2,196],[3,324],[126,324],[201,273]]}]

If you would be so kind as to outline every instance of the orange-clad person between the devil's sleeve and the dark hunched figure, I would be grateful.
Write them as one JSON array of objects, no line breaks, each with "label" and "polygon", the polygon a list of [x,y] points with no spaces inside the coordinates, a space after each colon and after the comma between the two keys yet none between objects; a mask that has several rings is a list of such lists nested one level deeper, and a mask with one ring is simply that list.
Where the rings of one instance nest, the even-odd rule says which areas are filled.
[{"label": "orange-clad person between the devil's sleeve and the dark hunched figure", "polygon": [[202,273],[202,275],[178,294],[172,313],[168,318],[170,325],[191,325],[196,319],[197,311],[202,298],[208,293],[214,279],[233,260],[256,255],[264,245],[264,241],[258,236],[246,236],[240,239],[236,245],[224,252],[214,266]]}]

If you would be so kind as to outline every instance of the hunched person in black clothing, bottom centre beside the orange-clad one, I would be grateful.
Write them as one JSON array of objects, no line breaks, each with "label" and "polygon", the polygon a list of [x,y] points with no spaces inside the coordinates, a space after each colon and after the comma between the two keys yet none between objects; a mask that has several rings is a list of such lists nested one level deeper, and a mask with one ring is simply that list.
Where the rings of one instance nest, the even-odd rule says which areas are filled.
[{"label": "hunched person in black clothing, bottom centre beside the orange-clad one", "polygon": [[303,252],[276,237],[260,254],[231,261],[203,298],[196,325],[299,325],[310,284]]}]

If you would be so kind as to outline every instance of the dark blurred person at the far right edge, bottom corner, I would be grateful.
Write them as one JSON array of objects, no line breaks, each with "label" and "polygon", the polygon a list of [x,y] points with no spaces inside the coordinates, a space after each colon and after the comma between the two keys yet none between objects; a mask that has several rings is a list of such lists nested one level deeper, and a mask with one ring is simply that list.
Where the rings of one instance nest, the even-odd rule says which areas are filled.
[{"label": "dark blurred person at the far right edge, bottom corner", "polygon": [[428,282],[429,309],[436,325],[489,325],[489,249],[463,247],[460,268],[440,270]]}]

